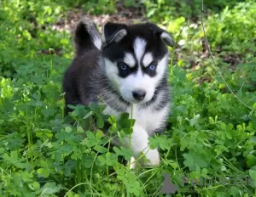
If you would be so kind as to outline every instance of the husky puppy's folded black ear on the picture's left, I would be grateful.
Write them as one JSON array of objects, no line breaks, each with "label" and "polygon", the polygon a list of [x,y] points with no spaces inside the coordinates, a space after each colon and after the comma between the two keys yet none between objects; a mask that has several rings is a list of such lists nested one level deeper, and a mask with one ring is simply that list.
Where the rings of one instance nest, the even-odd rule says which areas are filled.
[{"label": "husky puppy's folded black ear on the picture's left", "polygon": [[102,42],[119,42],[127,34],[127,26],[124,24],[108,22],[103,26]]}]

